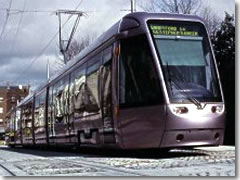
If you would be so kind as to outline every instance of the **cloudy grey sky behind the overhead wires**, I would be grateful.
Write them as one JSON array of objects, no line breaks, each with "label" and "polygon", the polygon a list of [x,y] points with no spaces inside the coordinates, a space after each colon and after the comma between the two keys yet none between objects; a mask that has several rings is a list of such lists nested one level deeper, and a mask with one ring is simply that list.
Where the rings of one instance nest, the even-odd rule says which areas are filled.
[{"label": "cloudy grey sky behind the overhead wires", "polygon": [[[11,0],[0,0],[0,33],[6,22],[6,8]],[[224,11],[235,13],[234,0],[203,0],[204,5],[220,17]],[[58,48],[59,9],[78,10],[87,13],[82,17],[75,39],[91,35],[94,38],[107,30],[121,17],[129,13],[130,0],[12,0],[11,9],[48,12],[11,13],[0,36],[0,85],[30,84],[32,87],[46,82],[46,64],[50,62],[50,74],[56,72],[61,55]],[[141,11],[139,7],[137,10]],[[68,16],[63,17],[63,22]],[[63,38],[69,35],[74,23],[72,17],[63,29]],[[51,41],[52,40],[52,41]],[[49,43],[51,42],[51,43]]]}]

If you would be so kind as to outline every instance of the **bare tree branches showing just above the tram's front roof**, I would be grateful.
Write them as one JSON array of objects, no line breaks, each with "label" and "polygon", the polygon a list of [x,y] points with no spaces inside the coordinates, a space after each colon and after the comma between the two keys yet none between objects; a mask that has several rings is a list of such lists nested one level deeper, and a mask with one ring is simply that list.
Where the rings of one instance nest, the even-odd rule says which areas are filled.
[{"label": "bare tree branches showing just above the tram's front roof", "polygon": [[197,14],[202,6],[202,0],[140,0],[139,6],[147,12]]}]

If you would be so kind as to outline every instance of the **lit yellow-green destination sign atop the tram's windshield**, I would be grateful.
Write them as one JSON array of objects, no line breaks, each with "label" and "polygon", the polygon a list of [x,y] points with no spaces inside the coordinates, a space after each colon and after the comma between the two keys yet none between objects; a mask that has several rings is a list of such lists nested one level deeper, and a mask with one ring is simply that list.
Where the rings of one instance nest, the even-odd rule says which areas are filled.
[{"label": "lit yellow-green destination sign atop the tram's windshield", "polygon": [[153,35],[167,36],[199,36],[197,31],[188,30],[181,26],[150,25]]}]

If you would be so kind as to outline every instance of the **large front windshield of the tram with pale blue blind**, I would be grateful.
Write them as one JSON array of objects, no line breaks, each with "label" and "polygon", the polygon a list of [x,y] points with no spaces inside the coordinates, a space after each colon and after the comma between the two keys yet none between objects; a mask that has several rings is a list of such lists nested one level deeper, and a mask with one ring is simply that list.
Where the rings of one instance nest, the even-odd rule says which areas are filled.
[{"label": "large front windshield of the tram with pale blue blind", "polygon": [[150,22],[170,101],[221,102],[219,82],[204,26],[189,22]]}]

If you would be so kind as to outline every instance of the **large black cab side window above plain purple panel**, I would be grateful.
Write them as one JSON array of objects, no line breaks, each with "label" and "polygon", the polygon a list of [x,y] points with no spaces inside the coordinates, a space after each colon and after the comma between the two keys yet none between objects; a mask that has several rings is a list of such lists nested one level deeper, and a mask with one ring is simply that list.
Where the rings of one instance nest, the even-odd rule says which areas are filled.
[{"label": "large black cab side window above plain purple panel", "polygon": [[119,96],[120,107],[163,103],[156,66],[145,35],[121,41]]}]

